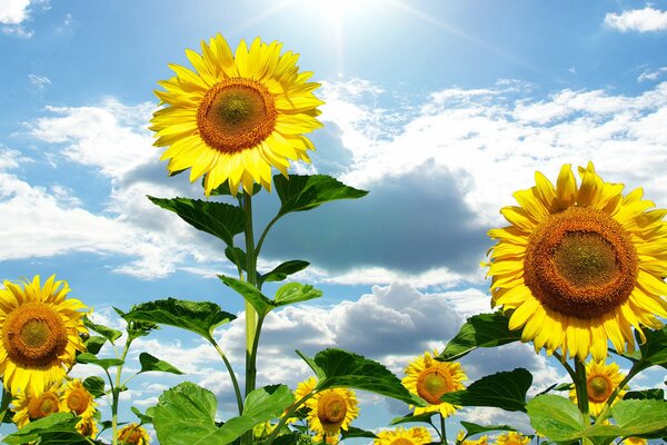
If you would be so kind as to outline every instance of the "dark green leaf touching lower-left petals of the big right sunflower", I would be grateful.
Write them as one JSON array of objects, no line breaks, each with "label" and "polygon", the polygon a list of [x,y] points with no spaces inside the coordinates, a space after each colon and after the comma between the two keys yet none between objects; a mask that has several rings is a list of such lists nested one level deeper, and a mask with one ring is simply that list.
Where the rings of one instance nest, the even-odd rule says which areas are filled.
[{"label": "dark green leaf touching lower-left petals of the big right sunflower", "polygon": [[509,320],[497,312],[475,315],[461,326],[437,360],[457,360],[478,347],[496,347],[521,339],[520,330],[509,330]]}]

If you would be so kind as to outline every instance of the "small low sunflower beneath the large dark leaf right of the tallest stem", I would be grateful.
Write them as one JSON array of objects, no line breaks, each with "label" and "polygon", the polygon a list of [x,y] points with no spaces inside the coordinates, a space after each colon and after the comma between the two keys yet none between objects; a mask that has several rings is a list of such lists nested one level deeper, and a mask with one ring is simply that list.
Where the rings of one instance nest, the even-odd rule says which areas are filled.
[{"label": "small low sunflower beneath the large dark leaf right of the tallest stem", "polygon": [[316,393],[306,400],[308,426],[318,435],[338,436],[359,415],[357,396],[348,388]]}]

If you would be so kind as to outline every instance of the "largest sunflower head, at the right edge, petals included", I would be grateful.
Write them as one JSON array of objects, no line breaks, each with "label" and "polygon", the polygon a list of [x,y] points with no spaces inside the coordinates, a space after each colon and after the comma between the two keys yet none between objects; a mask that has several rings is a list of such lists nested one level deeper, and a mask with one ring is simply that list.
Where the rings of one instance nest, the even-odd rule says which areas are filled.
[{"label": "largest sunflower head, at the right edge, petals included", "polygon": [[607,343],[634,350],[633,327],[661,327],[667,317],[667,210],[653,209],[636,189],[605,182],[591,162],[569,165],[556,187],[540,172],[500,211],[511,224],[491,229],[492,305],[510,314],[509,328],[547,354],[601,362]]}]

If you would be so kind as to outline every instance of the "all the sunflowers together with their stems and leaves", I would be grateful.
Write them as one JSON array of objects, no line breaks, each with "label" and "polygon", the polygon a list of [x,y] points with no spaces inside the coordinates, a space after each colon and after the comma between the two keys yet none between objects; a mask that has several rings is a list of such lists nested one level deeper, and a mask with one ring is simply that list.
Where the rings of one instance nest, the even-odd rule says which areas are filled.
[{"label": "all the sunflowers together with their stems and leaves", "polygon": [[[273,298],[262,294],[265,283],[286,280],[308,266],[290,260],[260,274],[257,259],[269,229],[290,212],[360,198],[366,191],[323,175],[288,178],[290,161],[309,161],[308,150],[315,147],[302,134],[321,127],[317,107],[323,103],[312,93],[319,85],[308,82],[312,73],[299,72],[298,55],[281,55],[281,43],[259,39],[249,48],[241,41],[232,55],[220,34],[202,41],[201,51],[186,52],[195,70],[170,66],[176,76],[160,82],[165,90],[156,91],[166,107],[155,113],[151,129],[156,145],[168,147],[162,159],[169,159],[170,175],[190,169],[190,181],[203,176],[207,198],[236,199],[238,206],[150,199],[226,244],[225,254],[239,277],[219,278],[246,301],[245,394],[213,336],[218,326],[236,316],[218,305],[169,298],[140,304],[129,313],[119,310],[128,322],[129,339],[120,359],[103,362],[87,352],[82,339],[87,307],[64,298],[67,283],[50,277],[42,287],[36,277],[23,287],[6,281],[0,290],[2,418],[10,404],[19,428],[57,412],[71,413],[81,435],[96,435],[93,396],[86,380],[68,377],[69,370],[77,362],[97,363],[104,372],[121,366],[132,338],[148,335],[152,326],[169,325],[197,333],[216,348],[229,373],[239,414],[216,422],[215,395],[180,384],[166,390],[150,413],[136,413],[153,424],[162,445],[337,444],[346,437],[369,437],[376,445],[447,444],[445,419],[464,406],[525,412],[536,434],[461,422],[466,431],[459,433],[457,445],[487,445],[489,436],[482,434],[490,431],[507,432],[496,437],[497,445],[526,445],[531,437],[539,443],[540,435],[585,445],[609,445],[618,437],[640,444],[647,437],[667,436],[663,390],[631,396],[628,392],[628,382],[641,370],[667,367],[667,332],[661,323],[667,317],[667,210],[651,209],[654,204],[643,199],[641,189],[624,196],[624,186],[605,182],[591,162],[578,169],[580,185],[569,165],[563,166],[556,185],[537,172],[534,187],[514,195],[519,205],[501,209],[509,226],[489,230],[497,244],[486,264],[491,306],[500,310],[470,317],[442,353],[417,357],[402,379],[381,364],[340,349],[326,349],[313,358],[299,353],[317,377],[300,383],[293,393],[285,385],[257,388],[258,345],[267,315],[321,296],[298,283],[279,287]],[[272,177],[273,167],[282,176]],[[256,243],[252,196],[262,187],[276,188],[280,209]],[[245,248],[235,245],[241,236]],[[554,385],[528,402],[532,376],[522,368],[464,386],[467,376],[456,359],[476,348],[519,340],[532,343],[538,354],[544,349],[555,356],[573,383]],[[616,363],[606,364],[610,350],[633,363],[627,375]],[[585,363],[589,356],[593,359]],[[142,370],[181,374],[156,357],[143,358]],[[120,367],[116,386],[110,382],[113,444],[147,445],[140,425],[117,428],[118,392],[123,386],[119,382]],[[359,414],[355,389],[395,397],[414,409],[394,425],[420,422],[430,427],[398,426],[377,433],[352,428]],[[568,390],[569,399],[546,394],[551,390]],[[436,415],[439,428],[431,423]],[[276,418],[279,423],[272,424]],[[42,425],[52,437],[62,424]],[[37,443],[49,442],[38,435]]]}]

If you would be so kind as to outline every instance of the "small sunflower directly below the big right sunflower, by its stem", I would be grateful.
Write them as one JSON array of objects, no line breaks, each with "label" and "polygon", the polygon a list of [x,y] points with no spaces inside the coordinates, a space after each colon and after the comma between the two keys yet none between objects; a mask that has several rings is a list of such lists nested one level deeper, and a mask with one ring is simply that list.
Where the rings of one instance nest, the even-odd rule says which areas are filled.
[{"label": "small sunflower directly below the big right sunflower, by its stem", "polygon": [[[598,416],[607,399],[614,390],[620,385],[625,376],[618,370],[616,363],[605,365],[605,363],[589,362],[586,364],[586,388],[588,389],[588,411],[591,415]],[[625,395],[626,388],[618,392],[618,396],[611,403],[620,400]],[[573,389],[569,393],[573,402],[577,403],[577,390]]]}]

